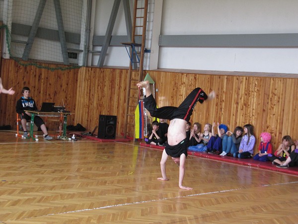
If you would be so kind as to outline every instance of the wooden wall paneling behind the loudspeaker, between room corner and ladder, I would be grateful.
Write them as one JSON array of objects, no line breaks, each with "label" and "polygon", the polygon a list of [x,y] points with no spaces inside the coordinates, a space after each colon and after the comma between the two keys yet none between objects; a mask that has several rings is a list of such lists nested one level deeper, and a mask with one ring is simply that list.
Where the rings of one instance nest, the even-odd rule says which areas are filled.
[{"label": "wooden wall paneling behind the loudspeaker, between room corner and ladder", "polygon": [[[77,96],[76,122],[91,130],[98,125],[99,114],[117,115],[117,135],[123,132],[126,107],[127,70],[81,69]],[[81,95],[79,94],[79,95]],[[88,111],[88,113],[86,113]]]}]

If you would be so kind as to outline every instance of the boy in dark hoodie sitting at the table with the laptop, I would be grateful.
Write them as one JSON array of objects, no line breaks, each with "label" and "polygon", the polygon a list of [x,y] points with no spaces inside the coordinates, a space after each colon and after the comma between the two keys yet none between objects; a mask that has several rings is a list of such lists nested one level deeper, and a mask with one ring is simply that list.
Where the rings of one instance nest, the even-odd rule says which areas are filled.
[{"label": "boy in dark hoodie sitting at the table with the laptop", "polygon": [[[31,113],[25,112],[25,111],[36,111],[37,107],[35,104],[35,101],[29,97],[30,95],[30,89],[28,87],[24,87],[22,89],[23,96],[16,102],[16,112],[21,115],[21,123],[24,130],[24,137],[28,137],[28,131],[27,131],[27,120],[31,119]],[[37,127],[39,127],[43,133],[45,134],[44,139],[45,140],[51,140],[53,137],[51,137],[48,134],[47,127],[43,121],[43,119],[40,116],[34,116],[34,123]]]}]

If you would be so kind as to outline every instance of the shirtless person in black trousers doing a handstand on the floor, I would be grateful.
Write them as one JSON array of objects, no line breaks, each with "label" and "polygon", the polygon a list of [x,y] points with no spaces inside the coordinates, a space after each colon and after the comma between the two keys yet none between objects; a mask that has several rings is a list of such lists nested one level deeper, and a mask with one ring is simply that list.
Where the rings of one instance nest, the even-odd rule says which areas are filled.
[{"label": "shirtless person in black trousers doing a handstand on the floor", "polygon": [[137,84],[139,88],[146,89],[146,98],[144,99],[144,107],[150,112],[150,115],[157,118],[169,119],[170,124],[167,133],[167,142],[165,149],[162,152],[160,160],[160,169],[162,177],[157,178],[158,180],[167,181],[169,180],[165,172],[165,162],[168,156],[171,156],[176,164],[179,164],[179,188],[191,190],[190,187],[182,185],[184,178],[184,164],[187,156],[188,139],[186,139],[185,127],[187,121],[199,101],[201,104],[207,100],[215,98],[215,93],[211,92],[208,96],[201,88],[194,89],[186,99],[176,107],[162,107],[157,108],[156,102],[151,94],[150,86],[148,81],[143,81]]}]

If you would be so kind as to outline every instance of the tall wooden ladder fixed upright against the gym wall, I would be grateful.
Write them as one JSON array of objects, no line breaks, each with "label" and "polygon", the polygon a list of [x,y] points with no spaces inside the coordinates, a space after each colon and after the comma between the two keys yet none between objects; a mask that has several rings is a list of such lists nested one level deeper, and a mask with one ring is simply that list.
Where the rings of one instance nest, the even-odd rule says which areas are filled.
[{"label": "tall wooden ladder fixed upright against the gym wall", "polygon": [[146,41],[148,0],[135,0],[132,30],[132,42],[123,43],[129,51],[130,65],[127,82],[126,112],[124,136],[135,137],[135,110],[139,103],[139,91],[136,84],[143,80],[143,65]]}]

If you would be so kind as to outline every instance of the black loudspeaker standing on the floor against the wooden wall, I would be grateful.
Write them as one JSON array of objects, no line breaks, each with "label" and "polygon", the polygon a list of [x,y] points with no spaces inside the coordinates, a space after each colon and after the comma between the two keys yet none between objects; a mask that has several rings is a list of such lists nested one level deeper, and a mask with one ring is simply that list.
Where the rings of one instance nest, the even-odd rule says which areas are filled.
[{"label": "black loudspeaker standing on the floor against the wooden wall", "polygon": [[115,139],[116,138],[117,116],[99,115],[98,138]]}]

